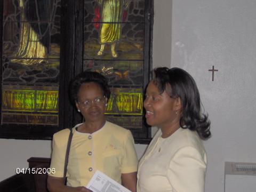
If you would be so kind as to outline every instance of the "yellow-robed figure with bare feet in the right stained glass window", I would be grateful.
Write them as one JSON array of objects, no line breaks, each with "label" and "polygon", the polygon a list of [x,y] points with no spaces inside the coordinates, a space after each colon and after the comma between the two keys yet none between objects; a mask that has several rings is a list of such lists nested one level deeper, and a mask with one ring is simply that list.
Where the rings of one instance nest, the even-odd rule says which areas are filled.
[{"label": "yellow-robed figure with bare feet in the right stained glass window", "polygon": [[101,26],[100,26],[100,50],[98,55],[102,55],[107,43],[111,46],[111,55],[117,58],[116,43],[121,35],[121,22],[123,20],[123,10],[128,3],[124,0],[97,0],[101,5]]}]

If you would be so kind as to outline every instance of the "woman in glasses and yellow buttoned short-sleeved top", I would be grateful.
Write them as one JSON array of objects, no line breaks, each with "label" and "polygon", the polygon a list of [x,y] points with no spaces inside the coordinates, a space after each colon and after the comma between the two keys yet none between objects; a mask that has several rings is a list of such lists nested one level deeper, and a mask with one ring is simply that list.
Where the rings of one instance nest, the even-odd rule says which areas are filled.
[{"label": "woman in glasses and yellow buttoned short-sleeved top", "polygon": [[53,135],[53,151],[49,174],[50,191],[90,191],[84,186],[99,170],[131,191],[136,191],[138,159],[129,130],[107,122],[105,110],[110,90],[107,79],[99,73],[84,71],[71,82],[71,98],[85,122],[73,127],[67,186],[63,167],[69,130]]}]

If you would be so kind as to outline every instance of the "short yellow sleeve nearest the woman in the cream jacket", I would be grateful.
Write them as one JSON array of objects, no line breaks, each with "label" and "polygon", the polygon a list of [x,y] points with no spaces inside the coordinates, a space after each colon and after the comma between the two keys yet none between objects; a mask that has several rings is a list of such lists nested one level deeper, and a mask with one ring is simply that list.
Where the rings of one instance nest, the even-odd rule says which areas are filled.
[{"label": "short yellow sleeve nearest the woman in the cream jacket", "polygon": [[135,151],[134,140],[131,131],[127,130],[125,136],[121,173],[137,172],[138,158]]}]

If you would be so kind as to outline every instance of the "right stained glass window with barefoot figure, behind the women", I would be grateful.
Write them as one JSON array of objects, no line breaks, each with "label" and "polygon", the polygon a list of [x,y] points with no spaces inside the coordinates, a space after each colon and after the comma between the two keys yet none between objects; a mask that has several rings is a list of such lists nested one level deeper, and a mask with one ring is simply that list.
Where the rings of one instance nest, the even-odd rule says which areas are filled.
[{"label": "right stained glass window with barefoot figure, behind the women", "polygon": [[111,89],[107,119],[131,129],[134,137],[145,126],[142,102],[150,65],[145,60],[147,7],[144,0],[84,1],[83,70],[107,77]]}]

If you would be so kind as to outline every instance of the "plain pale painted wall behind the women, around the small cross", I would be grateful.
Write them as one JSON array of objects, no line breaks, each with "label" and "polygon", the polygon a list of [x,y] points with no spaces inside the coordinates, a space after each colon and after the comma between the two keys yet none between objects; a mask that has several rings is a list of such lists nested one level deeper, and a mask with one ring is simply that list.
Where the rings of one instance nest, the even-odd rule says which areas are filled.
[{"label": "plain pale painted wall behind the women, around the small cross", "polygon": [[[187,70],[212,122],[206,192],[223,191],[225,161],[256,162],[255,10],[254,0],[155,0],[153,65]],[[28,157],[50,157],[50,145],[0,139],[0,180],[26,167]],[[139,157],[145,148],[136,145]]]}]

